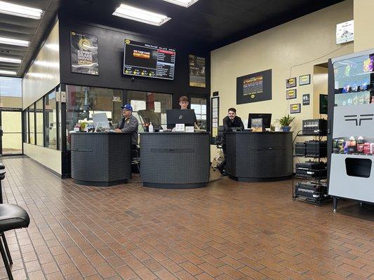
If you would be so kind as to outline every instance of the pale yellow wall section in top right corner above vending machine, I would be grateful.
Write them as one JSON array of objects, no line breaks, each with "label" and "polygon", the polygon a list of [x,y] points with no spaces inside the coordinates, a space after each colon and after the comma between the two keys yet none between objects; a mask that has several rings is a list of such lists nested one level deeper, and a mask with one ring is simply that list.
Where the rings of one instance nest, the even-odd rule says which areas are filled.
[{"label": "pale yellow wall section in top right corner above vending machine", "polygon": [[354,51],[374,47],[373,0],[354,0]]}]

